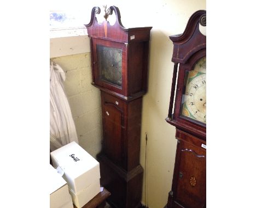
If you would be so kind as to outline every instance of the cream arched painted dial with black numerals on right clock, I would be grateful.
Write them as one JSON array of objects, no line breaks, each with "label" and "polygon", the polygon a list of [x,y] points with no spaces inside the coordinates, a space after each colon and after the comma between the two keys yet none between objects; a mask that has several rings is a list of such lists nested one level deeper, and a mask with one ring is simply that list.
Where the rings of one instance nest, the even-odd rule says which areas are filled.
[{"label": "cream arched painted dial with black numerals on right clock", "polygon": [[206,124],[206,57],[186,71],[184,85],[181,116]]}]

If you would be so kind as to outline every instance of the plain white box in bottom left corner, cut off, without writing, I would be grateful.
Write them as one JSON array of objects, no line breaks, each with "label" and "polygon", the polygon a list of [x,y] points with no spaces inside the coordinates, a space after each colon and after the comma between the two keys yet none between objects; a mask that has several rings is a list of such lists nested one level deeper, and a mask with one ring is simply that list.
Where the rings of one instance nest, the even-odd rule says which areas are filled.
[{"label": "plain white box in bottom left corner, cut off, without writing", "polygon": [[57,170],[50,165],[50,208],[73,208],[72,198],[68,192],[67,182],[62,179]]}]

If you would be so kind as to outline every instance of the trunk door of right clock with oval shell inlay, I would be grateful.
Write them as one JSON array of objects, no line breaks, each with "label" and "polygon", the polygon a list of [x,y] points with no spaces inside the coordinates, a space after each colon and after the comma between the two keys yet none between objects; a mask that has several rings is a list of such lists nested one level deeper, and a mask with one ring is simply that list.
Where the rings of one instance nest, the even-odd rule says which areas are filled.
[{"label": "trunk door of right clock with oval shell inlay", "polygon": [[206,150],[179,141],[174,200],[184,207],[202,208],[206,202]]}]

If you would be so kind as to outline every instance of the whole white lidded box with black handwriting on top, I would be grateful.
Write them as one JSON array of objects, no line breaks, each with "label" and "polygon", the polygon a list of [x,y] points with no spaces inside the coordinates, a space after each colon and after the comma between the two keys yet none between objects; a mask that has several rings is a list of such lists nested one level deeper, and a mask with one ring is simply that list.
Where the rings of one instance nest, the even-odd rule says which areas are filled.
[{"label": "whole white lidded box with black handwriting on top", "polygon": [[100,164],[75,142],[53,151],[54,168],[63,172],[73,203],[78,208],[100,192]]}]

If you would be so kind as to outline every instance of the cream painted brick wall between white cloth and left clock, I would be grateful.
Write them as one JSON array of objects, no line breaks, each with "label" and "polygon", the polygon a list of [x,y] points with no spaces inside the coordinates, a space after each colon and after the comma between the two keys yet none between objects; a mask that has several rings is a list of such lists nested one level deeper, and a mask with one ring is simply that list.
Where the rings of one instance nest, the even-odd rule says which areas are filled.
[{"label": "cream painted brick wall between white cloth and left clock", "polygon": [[[51,48],[55,48],[54,46],[53,44]],[[56,57],[52,60],[66,72],[64,87],[79,145],[96,158],[101,150],[102,119],[100,90],[91,85],[91,53]]]}]

